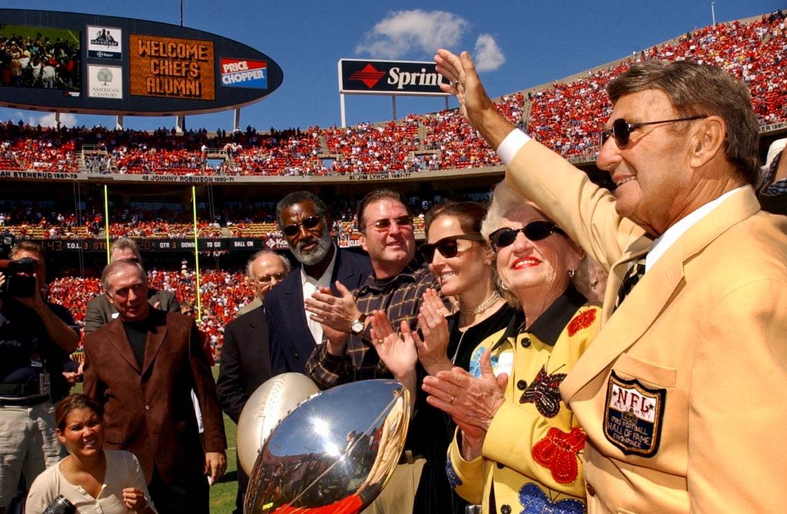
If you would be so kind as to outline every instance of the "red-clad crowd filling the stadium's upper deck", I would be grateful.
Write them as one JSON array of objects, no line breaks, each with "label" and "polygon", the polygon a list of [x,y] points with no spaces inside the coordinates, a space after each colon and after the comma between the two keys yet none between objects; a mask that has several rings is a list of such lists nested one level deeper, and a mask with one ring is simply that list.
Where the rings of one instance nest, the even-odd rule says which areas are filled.
[{"label": "red-clad crowd filling the stadium's upper deck", "polygon": [[[526,123],[531,134],[561,155],[593,156],[611,111],[604,95],[610,79],[638,61],[690,60],[718,65],[743,79],[760,124],[787,121],[785,32],[785,19],[779,13],[748,23],[697,28],[586,76],[555,81],[526,94],[504,95],[497,107],[515,124]],[[388,123],[272,129],[268,134],[252,127],[235,134],[218,130],[209,136],[206,130],[176,135],[166,129],[152,133],[102,127],[51,130],[4,123],[0,136],[0,170],[290,176],[500,165],[455,109]],[[80,162],[84,145],[96,145],[99,151],[91,151]]]}]

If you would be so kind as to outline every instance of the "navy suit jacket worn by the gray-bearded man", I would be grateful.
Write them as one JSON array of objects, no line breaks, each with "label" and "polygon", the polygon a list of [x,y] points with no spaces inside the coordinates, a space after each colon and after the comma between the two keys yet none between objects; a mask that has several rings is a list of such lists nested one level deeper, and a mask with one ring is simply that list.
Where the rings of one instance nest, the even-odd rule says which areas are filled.
[{"label": "navy suit jacket worn by the gray-bearded man", "polygon": [[[335,281],[350,291],[360,288],[371,274],[366,255],[337,248],[331,275],[331,290],[338,295]],[[301,270],[297,268],[265,296],[265,317],[271,343],[271,369],[274,375],[294,371],[306,373],[306,361],[315,343],[303,310]]]}]

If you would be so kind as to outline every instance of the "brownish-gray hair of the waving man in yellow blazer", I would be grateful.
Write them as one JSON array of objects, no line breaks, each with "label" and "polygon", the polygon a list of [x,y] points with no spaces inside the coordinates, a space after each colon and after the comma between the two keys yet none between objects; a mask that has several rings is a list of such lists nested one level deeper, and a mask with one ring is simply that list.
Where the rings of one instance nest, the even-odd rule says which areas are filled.
[{"label": "brownish-gray hair of the waving man in yellow blazer", "polygon": [[640,62],[607,84],[613,104],[626,94],[645,90],[663,91],[681,117],[724,119],[724,154],[741,178],[756,184],[759,126],[748,86],[722,68],[689,61]]}]

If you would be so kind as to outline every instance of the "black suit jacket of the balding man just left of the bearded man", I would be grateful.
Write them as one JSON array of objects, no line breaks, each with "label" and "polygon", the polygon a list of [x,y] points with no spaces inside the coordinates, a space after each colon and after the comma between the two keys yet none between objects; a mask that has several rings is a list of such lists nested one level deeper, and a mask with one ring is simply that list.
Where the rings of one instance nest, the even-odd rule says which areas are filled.
[{"label": "black suit jacket of the balding man just left of the bearded man", "polygon": [[216,388],[221,409],[238,423],[246,400],[271,377],[268,325],[265,311],[257,307],[227,323]]}]

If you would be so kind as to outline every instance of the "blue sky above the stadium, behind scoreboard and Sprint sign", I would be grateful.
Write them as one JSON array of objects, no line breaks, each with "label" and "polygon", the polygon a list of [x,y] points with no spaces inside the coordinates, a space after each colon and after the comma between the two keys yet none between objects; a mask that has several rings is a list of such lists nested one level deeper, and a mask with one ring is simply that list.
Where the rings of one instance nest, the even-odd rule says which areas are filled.
[{"label": "blue sky above the stadium, behind scoreboard and Sprint sign", "polygon": [[[179,24],[179,0],[3,0],[15,9],[68,10]],[[736,20],[787,8],[785,0],[716,0],[716,20]],[[283,68],[274,94],[242,109],[241,126],[328,127],[340,123],[336,63],[341,58],[431,60],[434,50],[470,50],[485,71],[490,95],[560,79],[711,24],[704,0],[579,2],[242,2],[184,0],[184,24],[267,53]],[[397,116],[433,112],[442,98],[397,97]],[[456,103],[450,102],[450,106]],[[347,123],[391,117],[390,97],[349,96]],[[0,119],[47,122],[37,112],[0,108]],[[112,127],[110,116],[63,121]],[[172,127],[173,118],[124,119],[126,127]],[[187,127],[231,130],[232,112],[189,116]]]}]

